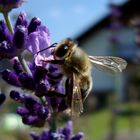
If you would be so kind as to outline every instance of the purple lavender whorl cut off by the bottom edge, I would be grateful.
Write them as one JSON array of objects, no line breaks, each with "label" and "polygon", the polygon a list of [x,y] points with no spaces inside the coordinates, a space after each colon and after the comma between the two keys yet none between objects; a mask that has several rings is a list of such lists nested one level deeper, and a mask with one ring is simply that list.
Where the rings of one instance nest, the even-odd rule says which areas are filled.
[{"label": "purple lavender whorl cut off by the bottom edge", "polygon": [[31,132],[30,135],[33,140],[82,140],[84,134],[79,132],[75,136],[72,134],[72,121],[69,121],[64,128],[58,128],[56,132],[50,130],[43,131],[42,134]]}]

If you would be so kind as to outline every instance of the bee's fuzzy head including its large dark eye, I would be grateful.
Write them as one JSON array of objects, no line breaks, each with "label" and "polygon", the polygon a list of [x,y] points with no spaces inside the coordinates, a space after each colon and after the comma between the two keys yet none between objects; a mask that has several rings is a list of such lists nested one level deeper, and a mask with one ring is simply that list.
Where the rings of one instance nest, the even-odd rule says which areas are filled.
[{"label": "bee's fuzzy head including its large dark eye", "polygon": [[76,47],[76,43],[70,39],[66,38],[58,43],[54,49],[53,55],[56,60],[64,60],[70,56],[73,49]]}]

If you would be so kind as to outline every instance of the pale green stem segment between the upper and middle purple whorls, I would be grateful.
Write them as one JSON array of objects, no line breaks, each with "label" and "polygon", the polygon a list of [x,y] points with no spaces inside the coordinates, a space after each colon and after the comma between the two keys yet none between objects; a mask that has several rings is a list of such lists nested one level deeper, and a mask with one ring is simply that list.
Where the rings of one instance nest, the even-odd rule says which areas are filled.
[{"label": "pale green stem segment between the upper and middle purple whorls", "polygon": [[25,59],[23,58],[22,54],[18,55],[18,59],[23,67],[23,69],[29,74],[32,75],[31,70],[29,69]]}]

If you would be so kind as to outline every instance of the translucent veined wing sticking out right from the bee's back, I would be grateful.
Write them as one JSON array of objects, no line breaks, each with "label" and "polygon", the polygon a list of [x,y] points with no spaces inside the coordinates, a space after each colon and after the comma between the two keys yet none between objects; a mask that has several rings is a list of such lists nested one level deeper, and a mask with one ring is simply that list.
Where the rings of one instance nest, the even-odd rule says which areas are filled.
[{"label": "translucent veined wing sticking out right from the bee's back", "polygon": [[108,73],[122,72],[127,66],[127,62],[119,57],[89,56],[89,59],[97,69]]}]

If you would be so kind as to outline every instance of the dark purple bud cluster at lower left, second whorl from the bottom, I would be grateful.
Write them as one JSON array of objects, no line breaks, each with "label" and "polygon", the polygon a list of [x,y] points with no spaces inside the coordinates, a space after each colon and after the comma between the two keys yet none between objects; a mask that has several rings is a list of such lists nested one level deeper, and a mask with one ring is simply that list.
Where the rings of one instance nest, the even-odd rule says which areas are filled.
[{"label": "dark purple bud cluster at lower left, second whorl from the bottom", "polygon": [[23,106],[17,108],[17,113],[22,117],[24,124],[42,127],[49,117],[49,109],[35,97],[11,91],[10,97]]}]

